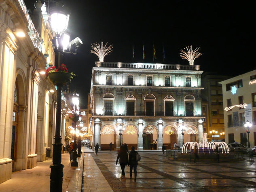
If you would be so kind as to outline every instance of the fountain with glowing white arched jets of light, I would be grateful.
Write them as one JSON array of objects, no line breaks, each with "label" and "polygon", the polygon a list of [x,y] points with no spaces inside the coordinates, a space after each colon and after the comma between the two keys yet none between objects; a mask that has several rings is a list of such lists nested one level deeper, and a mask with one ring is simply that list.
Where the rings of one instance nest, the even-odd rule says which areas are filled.
[{"label": "fountain with glowing white arched jets of light", "polygon": [[[191,149],[194,150],[194,147],[198,146],[198,149],[203,149],[203,153],[210,153],[210,149],[215,150],[216,147],[222,149],[222,153],[229,153],[228,145],[225,142],[207,142],[207,133],[203,133],[203,143],[199,142],[186,142],[182,146],[182,153],[187,153],[188,151],[191,152]],[[220,150],[219,150],[220,151]],[[200,150],[198,150],[200,153]]]}]

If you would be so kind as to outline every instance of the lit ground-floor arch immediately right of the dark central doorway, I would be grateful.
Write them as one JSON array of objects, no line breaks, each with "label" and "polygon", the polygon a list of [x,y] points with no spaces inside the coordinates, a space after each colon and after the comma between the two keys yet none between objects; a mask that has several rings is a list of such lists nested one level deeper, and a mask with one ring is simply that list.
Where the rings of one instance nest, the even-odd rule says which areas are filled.
[{"label": "lit ground-floor arch immediately right of the dark central doorway", "polygon": [[173,125],[167,125],[163,129],[163,144],[165,145],[165,149],[173,149],[174,143],[177,143],[177,134],[177,128]]}]

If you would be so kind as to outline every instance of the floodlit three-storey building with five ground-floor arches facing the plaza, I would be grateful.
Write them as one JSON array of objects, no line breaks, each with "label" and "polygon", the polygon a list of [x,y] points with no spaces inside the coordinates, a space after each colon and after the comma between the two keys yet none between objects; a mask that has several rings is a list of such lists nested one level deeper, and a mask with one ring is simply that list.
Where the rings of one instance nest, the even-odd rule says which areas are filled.
[{"label": "floodlit three-storey building with five ground-floor arches facing the plaza", "polygon": [[[93,144],[108,150],[127,143],[128,148],[150,149],[157,143],[167,149],[174,142],[203,139],[199,65],[95,62],[91,80]],[[116,131],[116,128],[123,129]],[[120,141],[121,139],[121,141]]]}]

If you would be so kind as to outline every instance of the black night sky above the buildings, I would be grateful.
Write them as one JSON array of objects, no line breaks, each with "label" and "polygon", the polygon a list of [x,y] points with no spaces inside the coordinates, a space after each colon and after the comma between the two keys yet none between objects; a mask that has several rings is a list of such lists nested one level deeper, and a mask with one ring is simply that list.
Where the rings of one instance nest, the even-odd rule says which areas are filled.
[{"label": "black night sky above the buildings", "polygon": [[[25,3],[31,6],[31,1]],[[91,71],[98,61],[89,53],[93,42],[113,45],[113,53],[104,59],[110,62],[133,62],[134,44],[134,62],[153,63],[154,41],[155,63],[188,65],[181,59],[180,49],[192,45],[200,47],[202,55],[195,65],[205,72],[238,75],[256,69],[252,1],[66,0],[66,5],[71,11],[71,36],[83,41],[76,55],[63,57],[68,70],[77,75],[70,89],[80,93],[81,108],[87,106]]]}]

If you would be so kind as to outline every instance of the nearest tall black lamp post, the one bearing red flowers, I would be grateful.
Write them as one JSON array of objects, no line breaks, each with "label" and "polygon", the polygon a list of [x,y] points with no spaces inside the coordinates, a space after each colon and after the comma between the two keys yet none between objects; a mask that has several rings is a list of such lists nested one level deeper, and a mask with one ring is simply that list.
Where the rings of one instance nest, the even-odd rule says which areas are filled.
[{"label": "nearest tall black lamp post, the one bearing red flowers", "polygon": [[[51,27],[55,32],[55,38],[53,39],[53,44],[55,46],[55,66],[60,64],[60,56],[63,51],[63,32],[67,29],[68,26],[68,14],[63,14],[53,11],[51,15]],[[58,44],[58,46],[57,46]],[[63,181],[63,165],[61,164],[61,87],[63,84],[57,85],[57,106],[56,106],[56,124],[55,124],[55,137],[53,144],[53,164],[51,168],[51,184],[50,191],[62,191],[62,181]]]}]

